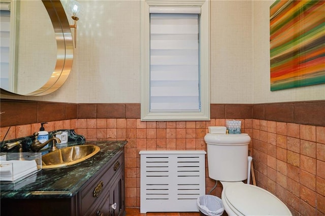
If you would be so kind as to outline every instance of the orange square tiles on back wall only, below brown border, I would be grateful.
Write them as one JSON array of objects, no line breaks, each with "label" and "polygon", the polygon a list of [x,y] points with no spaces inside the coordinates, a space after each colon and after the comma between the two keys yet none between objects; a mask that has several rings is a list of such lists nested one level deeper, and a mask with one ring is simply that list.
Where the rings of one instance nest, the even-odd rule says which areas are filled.
[{"label": "orange square tiles on back wall only, below brown border", "polygon": [[[242,119],[243,132],[252,134],[252,120]],[[78,119],[78,134],[87,140],[127,140],[125,146],[125,197],[127,207],[140,206],[141,150],[205,150],[209,126],[225,125],[225,119],[210,121],[142,122],[140,119]],[[206,167],[206,176],[208,169]],[[215,181],[206,177],[206,191]],[[221,186],[212,192],[221,195]]]}]

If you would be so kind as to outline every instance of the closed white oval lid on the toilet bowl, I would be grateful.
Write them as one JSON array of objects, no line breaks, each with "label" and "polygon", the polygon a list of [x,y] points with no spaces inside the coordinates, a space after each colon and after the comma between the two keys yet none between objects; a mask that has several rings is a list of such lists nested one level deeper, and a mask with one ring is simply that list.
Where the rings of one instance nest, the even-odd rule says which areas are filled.
[{"label": "closed white oval lid on the toilet bowl", "polygon": [[232,209],[243,215],[292,215],[276,196],[253,185],[230,185],[224,197]]}]

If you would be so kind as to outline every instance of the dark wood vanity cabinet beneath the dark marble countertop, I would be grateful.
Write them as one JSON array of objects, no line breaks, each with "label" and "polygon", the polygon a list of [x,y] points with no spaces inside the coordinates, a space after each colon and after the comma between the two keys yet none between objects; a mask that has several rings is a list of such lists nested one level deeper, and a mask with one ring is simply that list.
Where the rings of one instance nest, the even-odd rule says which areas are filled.
[{"label": "dark wood vanity cabinet beneath the dark marble countertop", "polygon": [[[54,196],[54,195],[53,195]],[[1,215],[117,216],[125,214],[124,153],[117,152],[70,197],[1,199]]]}]

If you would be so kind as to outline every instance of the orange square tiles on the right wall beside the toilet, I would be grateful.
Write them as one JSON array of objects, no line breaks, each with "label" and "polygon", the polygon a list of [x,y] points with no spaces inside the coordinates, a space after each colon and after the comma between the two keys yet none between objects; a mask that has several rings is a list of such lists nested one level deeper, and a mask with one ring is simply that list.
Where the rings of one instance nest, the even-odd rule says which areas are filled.
[{"label": "orange square tiles on the right wall beside the toilet", "polygon": [[325,127],[253,120],[257,185],[294,215],[325,214]]}]

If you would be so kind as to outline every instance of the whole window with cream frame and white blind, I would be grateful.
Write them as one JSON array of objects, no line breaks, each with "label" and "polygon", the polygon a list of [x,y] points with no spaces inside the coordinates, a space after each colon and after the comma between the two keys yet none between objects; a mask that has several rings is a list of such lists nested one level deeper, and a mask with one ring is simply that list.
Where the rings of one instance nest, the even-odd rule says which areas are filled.
[{"label": "whole window with cream frame and white blind", "polygon": [[141,4],[141,120],[209,120],[209,2]]}]

